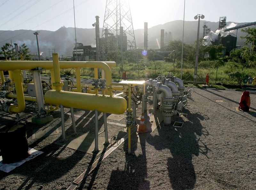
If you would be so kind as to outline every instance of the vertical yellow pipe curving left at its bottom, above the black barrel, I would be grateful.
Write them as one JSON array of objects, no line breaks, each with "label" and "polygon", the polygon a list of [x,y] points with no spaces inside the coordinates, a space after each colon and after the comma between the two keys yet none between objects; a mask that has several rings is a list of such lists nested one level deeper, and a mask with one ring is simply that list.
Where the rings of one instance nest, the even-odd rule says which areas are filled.
[{"label": "vertical yellow pipe curving left at its bottom, above the black barrel", "polygon": [[8,108],[9,113],[21,113],[25,109],[25,99],[23,94],[22,80],[21,80],[21,70],[13,70],[13,77],[15,80],[15,89],[17,92],[18,105],[11,105]]}]

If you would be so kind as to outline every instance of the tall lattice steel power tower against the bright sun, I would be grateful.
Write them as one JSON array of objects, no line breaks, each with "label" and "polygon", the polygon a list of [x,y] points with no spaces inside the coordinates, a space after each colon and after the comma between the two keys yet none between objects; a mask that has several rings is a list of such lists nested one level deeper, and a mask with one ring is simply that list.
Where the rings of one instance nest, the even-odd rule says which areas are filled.
[{"label": "tall lattice steel power tower against the bright sun", "polygon": [[100,59],[105,61],[109,51],[136,50],[135,36],[129,1],[107,0],[102,38],[100,39]]}]

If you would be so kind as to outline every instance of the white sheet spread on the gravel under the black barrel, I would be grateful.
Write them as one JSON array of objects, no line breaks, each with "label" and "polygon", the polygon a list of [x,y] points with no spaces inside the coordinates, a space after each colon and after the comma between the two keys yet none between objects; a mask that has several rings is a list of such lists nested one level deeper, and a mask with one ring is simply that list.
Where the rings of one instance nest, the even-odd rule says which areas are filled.
[{"label": "white sheet spread on the gravel under the black barrel", "polygon": [[0,170],[4,172],[10,172],[16,167],[20,166],[21,164],[24,164],[26,161],[33,159],[34,157],[37,157],[38,155],[44,153],[40,150],[35,150],[32,148],[28,148],[30,156],[25,158],[24,160],[21,160],[20,162],[12,163],[12,164],[3,164],[3,158],[0,156]]}]

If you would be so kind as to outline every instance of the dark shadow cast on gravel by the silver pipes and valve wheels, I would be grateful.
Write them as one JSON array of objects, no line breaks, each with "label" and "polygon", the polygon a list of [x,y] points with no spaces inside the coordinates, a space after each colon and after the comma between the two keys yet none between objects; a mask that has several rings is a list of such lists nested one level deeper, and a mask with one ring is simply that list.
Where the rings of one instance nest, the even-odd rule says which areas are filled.
[{"label": "dark shadow cast on gravel by the silver pipes and valve wheels", "polygon": [[147,142],[156,150],[170,150],[172,157],[168,158],[166,167],[173,189],[194,188],[196,174],[192,163],[193,156],[201,153],[207,157],[209,151],[207,145],[200,140],[202,135],[209,135],[200,121],[209,118],[201,113],[189,114],[188,110],[184,110],[183,113],[188,113],[189,121],[183,121],[182,117],[173,117],[175,121],[184,122],[182,128],[172,127],[173,122],[171,125],[165,125],[162,122],[157,127],[159,135],[150,136],[147,139]]}]

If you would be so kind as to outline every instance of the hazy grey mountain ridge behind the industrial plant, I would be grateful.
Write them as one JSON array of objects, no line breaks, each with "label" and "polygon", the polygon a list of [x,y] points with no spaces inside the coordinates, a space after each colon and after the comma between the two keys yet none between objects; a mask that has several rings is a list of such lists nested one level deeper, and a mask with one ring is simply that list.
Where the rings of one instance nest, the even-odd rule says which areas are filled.
[{"label": "hazy grey mountain ridge behind the industrial plant", "polygon": [[[218,29],[219,22],[210,22],[200,20],[199,37],[203,37],[203,25],[206,23],[208,28],[212,31]],[[227,28],[229,25],[234,25],[235,22],[227,22]],[[247,24],[235,23],[237,26]],[[196,41],[198,21],[185,21],[184,23],[184,43],[194,43]],[[233,26],[231,26],[233,27]],[[164,24],[159,24],[148,28],[148,49],[159,49],[157,41],[160,43],[161,29],[164,32],[172,32],[172,40],[182,40],[183,20],[174,20]],[[25,43],[28,45],[31,54],[37,53],[36,36],[33,34],[33,30],[7,30],[0,31],[0,47],[5,43],[18,43],[22,45]],[[73,49],[75,47],[75,28],[62,26],[56,31],[39,30],[38,42],[40,52],[44,52],[44,56],[50,56],[52,51],[59,53],[59,56],[72,56]],[[100,28],[100,34],[102,28]],[[234,32],[236,34],[236,31]],[[237,31],[237,45],[243,46],[244,40],[241,40],[239,36],[245,35],[241,32],[241,29]],[[101,36],[101,35],[100,35]],[[144,29],[134,30],[134,36],[137,48],[144,48]],[[95,28],[76,28],[77,42],[84,45],[96,46],[95,42]]]}]

